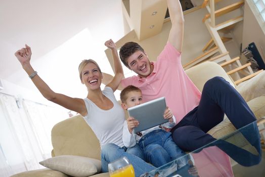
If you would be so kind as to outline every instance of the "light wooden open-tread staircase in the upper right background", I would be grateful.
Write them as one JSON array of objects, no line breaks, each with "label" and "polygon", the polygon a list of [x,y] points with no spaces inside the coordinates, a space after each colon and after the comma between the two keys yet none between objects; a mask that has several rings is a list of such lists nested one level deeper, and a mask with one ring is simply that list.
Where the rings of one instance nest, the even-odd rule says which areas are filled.
[{"label": "light wooden open-tread staircase in the upper right background", "polygon": [[208,13],[204,16],[202,22],[205,23],[212,38],[202,49],[203,54],[191,62],[185,64],[183,67],[184,69],[188,69],[201,62],[214,61],[224,67],[224,69],[227,71],[227,74],[231,76],[232,80],[234,80],[235,84],[239,84],[257,75],[261,71],[254,73],[250,67],[251,64],[247,63],[242,65],[239,57],[231,59],[229,52],[224,45],[224,43],[228,40],[231,40],[231,38],[220,36],[219,34],[220,31],[229,31],[231,28],[233,28],[236,23],[243,20],[243,16],[240,15],[219,24],[215,23],[215,18],[241,8],[244,5],[244,1],[240,0],[229,6],[215,10],[215,4],[220,1],[222,0],[204,0],[201,8],[206,8]]}]

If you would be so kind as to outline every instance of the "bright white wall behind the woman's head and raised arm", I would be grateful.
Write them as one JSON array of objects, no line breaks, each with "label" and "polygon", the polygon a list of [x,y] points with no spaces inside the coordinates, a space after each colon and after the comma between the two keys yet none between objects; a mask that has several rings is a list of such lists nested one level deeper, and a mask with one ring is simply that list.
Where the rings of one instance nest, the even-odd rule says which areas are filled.
[{"label": "bright white wall behind the woman's head and raised arm", "polygon": [[[123,31],[121,28],[117,31]],[[108,35],[108,37],[106,37]],[[87,89],[81,84],[78,65],[83,59],[94,59],[99,63],[101,70],[113,73],[105,56],[105,39],[117,38],[119,34],[92,36],[89,29],[85,28],[68,41],[40,58],[34,58],[34,46],[31,47],[31,64],[38,75],[47,82],[54,92],[70,97],[85,98]],[[105,39],[103,39],[105,37]],[[15,57],[14,57],[14,60]],[[17,61],[19,64],[19,62]],[[22,67],[21,67],[22,68]],[[22,69],[10,73],[8,79],[2,79],[4,90],[0,91],[16,97],[26,98],[43,104],[53,104],[42,97],[33,82]],[[7,80],[13,80],[10,82]],[[104,86],[104,85],[102,85]]]}]

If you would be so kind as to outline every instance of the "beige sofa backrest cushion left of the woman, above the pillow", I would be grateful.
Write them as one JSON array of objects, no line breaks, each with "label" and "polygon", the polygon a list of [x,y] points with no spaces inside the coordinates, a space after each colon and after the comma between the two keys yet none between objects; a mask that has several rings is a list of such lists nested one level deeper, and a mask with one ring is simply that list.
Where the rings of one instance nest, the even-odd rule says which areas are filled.
[{"label": "beige sofa backrest cushion left of the woman, above the pillow", "polygon": [[77,155],[101,160],[99,140],[81,115],[54,125],[52,144],[55,156]]}]

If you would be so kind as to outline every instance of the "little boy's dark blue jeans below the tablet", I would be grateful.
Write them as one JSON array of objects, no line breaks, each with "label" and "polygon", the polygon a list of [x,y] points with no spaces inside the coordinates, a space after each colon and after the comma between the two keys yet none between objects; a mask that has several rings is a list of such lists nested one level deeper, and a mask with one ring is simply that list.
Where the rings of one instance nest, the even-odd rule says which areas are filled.
[{"label": "little boy's dark blue jeans below the tablet", "polygon": [[162,129],[156,129],[143,136],[139,141],[139,146],[143,149],[147,162],[152,163],[155,167],[186,155],[174,143],[171,133]]}]

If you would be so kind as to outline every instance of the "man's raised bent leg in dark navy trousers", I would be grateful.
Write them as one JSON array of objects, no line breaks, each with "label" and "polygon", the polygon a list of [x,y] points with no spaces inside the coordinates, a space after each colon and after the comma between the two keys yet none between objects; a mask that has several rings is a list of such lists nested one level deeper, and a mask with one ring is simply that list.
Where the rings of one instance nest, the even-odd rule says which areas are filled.
[{"label": "man's raised bent leg in dark navy trousers", "polygon": [[222,77],[213,77],[204,84],[196,111],[197,123],[207,132],[223,120],[224,113],[237,129],[256,120],[234,87]]}]

